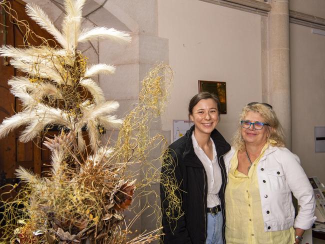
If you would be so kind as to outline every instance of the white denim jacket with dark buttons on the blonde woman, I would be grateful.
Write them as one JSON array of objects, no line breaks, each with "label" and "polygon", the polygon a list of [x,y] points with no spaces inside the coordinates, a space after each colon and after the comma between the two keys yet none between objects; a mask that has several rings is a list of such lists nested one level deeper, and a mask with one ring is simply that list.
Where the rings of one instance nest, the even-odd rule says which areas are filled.
[{"label": "white denim jacket with dark buttons on the blonde woman", "polygon": [[[234,152],[235,149],[231,148],[224,156],[227,173]],[[264,231],[284,230],[291,226],[310,228],[316,219],[315,198],[299,157],[285,147],[269,146],[256,170]],[[291,192],[300,205],[295,219]]]}]

